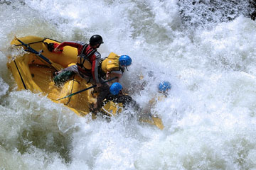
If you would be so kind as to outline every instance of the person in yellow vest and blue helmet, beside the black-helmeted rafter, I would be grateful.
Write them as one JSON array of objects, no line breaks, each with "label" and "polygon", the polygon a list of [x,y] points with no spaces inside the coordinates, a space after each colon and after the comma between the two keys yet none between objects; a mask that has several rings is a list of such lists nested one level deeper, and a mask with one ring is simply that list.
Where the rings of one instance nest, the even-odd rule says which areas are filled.
[{"label": "person in yellow vest and blue helmet, beside the black-helmeted rafter", "polygon": [[119,79],[121,79],[122,74],[124,73],[125,67],[129,67],[131,64],[132,58],[128,55],[119,56],[112,52],[109,57],[101,60],[99,74],[106,80],[118,77],[116,82],[119,82]]}]

